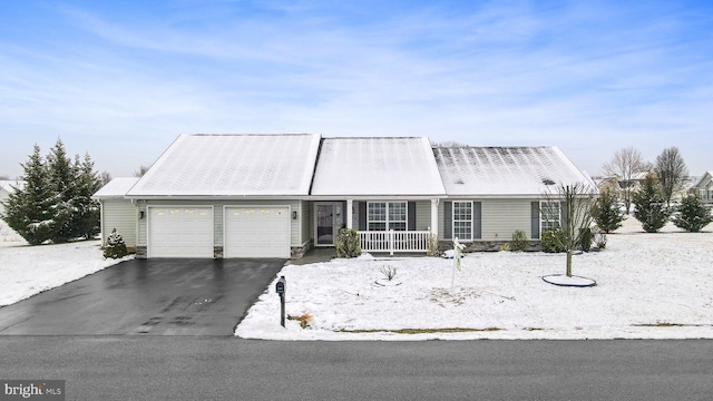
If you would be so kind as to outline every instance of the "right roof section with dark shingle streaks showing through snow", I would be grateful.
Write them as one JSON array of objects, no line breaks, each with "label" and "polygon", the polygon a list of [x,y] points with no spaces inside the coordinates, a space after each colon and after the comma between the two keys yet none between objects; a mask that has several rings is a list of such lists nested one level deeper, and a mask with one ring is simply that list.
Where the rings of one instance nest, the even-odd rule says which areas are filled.
[{"label": "right roof section with dark shingle streaks showing through snow", "polygon": [[434,147],[433,155],[449,196],[540,196],[553,184],[574,183],[596,192],[592,178],[554,146]]}]

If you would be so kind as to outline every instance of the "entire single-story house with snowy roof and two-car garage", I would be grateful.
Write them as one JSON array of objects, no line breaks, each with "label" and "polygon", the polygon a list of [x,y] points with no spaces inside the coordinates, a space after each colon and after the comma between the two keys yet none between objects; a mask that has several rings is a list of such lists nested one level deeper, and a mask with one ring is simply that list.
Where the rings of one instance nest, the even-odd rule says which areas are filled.
[{"label": "entire single-story house with snowy roof and two-car garage", "polygon": [[334,246],[342,227],[356,229],[368,252],[427,252],[453,237],[489,250],[517,229],[537,244],[561,214],[541,204],[545,194],[575,182],[596,192],[556,147],[182,135],[130,188],[117,182],[96,197],[105,236],[133,221],[124,229],[135,238],[125,241],[137,257],[286,258]]}]

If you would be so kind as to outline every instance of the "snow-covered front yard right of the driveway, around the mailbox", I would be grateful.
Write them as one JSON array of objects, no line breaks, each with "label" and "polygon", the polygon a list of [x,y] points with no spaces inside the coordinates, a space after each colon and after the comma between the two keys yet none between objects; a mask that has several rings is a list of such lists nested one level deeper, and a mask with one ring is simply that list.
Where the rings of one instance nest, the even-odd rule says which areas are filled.
[{"label": "snow-covered front yard right of the driveway, around the mailbox", "polygon": [[[565,273],[564,254],[473,253],[451,288],[452,260],[393,257],[289,265],[287,315],[280,325],[273,282],[237,326],[271,340],[713,339],[713,225],[691,234],[673,225],[646,234],[634,218],[606,250],[575,255],[573,273],[593,287],[541,277]],[[378,285],[381,267],[399,285]],[[276,280],[277,277],[275,277]],[[403,333],[412,329],[412,333]]]}]

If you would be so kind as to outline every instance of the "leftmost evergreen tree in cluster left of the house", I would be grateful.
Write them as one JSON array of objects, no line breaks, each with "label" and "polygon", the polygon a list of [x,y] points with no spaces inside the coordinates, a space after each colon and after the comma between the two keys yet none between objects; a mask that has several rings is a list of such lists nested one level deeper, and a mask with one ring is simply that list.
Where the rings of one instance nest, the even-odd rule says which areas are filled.
[{"label": "leftmost evergreen tree in cluster left of the house", "polygon": [[39,146],[22,165],[25,186],[17,187],[3,203],[2,219],[31,245],[52,238],[52,190],[47,180],[47,166],[40,156]]}]

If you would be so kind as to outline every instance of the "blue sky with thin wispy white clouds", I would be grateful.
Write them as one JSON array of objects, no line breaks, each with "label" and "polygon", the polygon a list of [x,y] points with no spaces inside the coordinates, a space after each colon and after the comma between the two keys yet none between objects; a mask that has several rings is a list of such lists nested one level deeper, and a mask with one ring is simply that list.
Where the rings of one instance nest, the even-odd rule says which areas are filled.
[{"label": "blue sky with thin wispy white clouds", "polygon": [[127,176],[179,134],[627,146],[713,169],[710,1],[9,1],[0,175],[61,137]]}]

